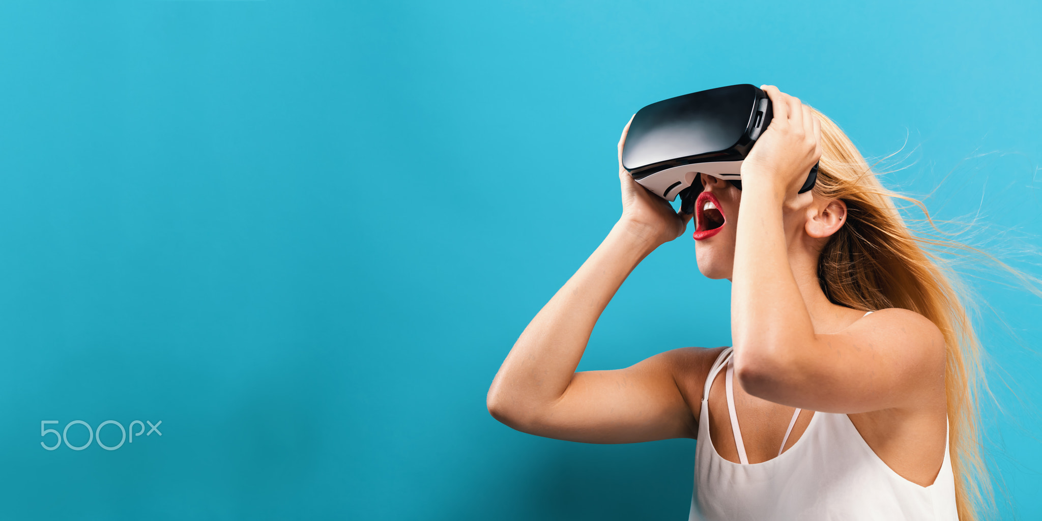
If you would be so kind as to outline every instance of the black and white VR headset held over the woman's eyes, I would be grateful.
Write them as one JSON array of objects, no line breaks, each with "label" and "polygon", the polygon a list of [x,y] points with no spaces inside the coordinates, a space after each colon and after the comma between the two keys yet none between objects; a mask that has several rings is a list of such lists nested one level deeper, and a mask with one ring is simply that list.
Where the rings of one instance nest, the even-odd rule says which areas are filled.
[{"label": "black and white VR headset held over the woman's eyes", "polygon": [[[680,196],[680,210],[694,212],[701,176],[742,190],[742,162],[767,129],[774,111],[767,93],[750,84],[685,94],[637,111],[622,146],[622,168],[667,201]],[[799,193],[814,188],[818,165]]]}]

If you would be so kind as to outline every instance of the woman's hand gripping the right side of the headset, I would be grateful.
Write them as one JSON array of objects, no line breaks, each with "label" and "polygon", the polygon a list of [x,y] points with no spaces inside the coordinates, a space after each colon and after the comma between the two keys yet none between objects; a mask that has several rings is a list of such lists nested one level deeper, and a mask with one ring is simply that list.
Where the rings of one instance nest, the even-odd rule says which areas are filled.
[{"label": "woman's hand gripping the right side of the headset", "polygon": [[799,99],[761,85],[771,98],[774,116],[742,163],[744,190],[767,189],[779,200],[795,195],[821,157],[821,123]]}]

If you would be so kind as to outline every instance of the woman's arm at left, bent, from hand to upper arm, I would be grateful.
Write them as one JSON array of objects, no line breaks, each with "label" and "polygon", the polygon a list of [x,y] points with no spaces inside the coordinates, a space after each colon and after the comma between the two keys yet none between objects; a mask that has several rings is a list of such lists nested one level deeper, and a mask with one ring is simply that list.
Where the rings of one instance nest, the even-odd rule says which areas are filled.
[{"label": "woman's arm at left, bent, from hand to upper arm", "polygon": [[637,184],[621,162],[619,180],[622,218],[531,320],[489,389],[489,412],[518,430],[590,443],[694,436],[694,418],[674,376],[697,366],[694,359],[704,358],[699,356],[704,350],[677,349],[626,369],[575,373],[615,292],[691,219]]}]

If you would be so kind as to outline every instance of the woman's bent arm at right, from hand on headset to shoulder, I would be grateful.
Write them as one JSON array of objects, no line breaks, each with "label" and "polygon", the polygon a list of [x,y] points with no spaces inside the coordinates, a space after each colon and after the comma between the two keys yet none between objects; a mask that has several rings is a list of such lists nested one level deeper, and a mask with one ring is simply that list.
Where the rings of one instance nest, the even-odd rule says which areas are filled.
[{"label": "woman's bent arm at right, from hand on headset to shoulder", "polygon": [[798,99],[765,90],[774,119],[743,164],[735,244],[731,337],[739,381],[760,398],[826,413],[919,406],[944,386],[944,339],[929,320],[890,308],[837,333],[814,331],[789,260],[793,245],[783,205],[803,208],[813,197],[796,195],[796,187],[821,155],[820,127]]}]

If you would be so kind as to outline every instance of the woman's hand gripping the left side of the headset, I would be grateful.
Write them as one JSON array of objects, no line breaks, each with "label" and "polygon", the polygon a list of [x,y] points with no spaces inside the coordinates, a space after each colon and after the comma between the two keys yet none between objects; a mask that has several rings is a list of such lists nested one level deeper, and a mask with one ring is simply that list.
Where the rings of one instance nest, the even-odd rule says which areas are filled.
[{"label": "woman's hand gripping the left side of the headset", "polygon": [[634,119],[629,118],[619,138],[619,182],[622,185],[622,217],[619,223],[658,246],[680,237],[692,216],[675,212],[668,201],[638,184],[622,168],[622,146],[632,122]]}]

